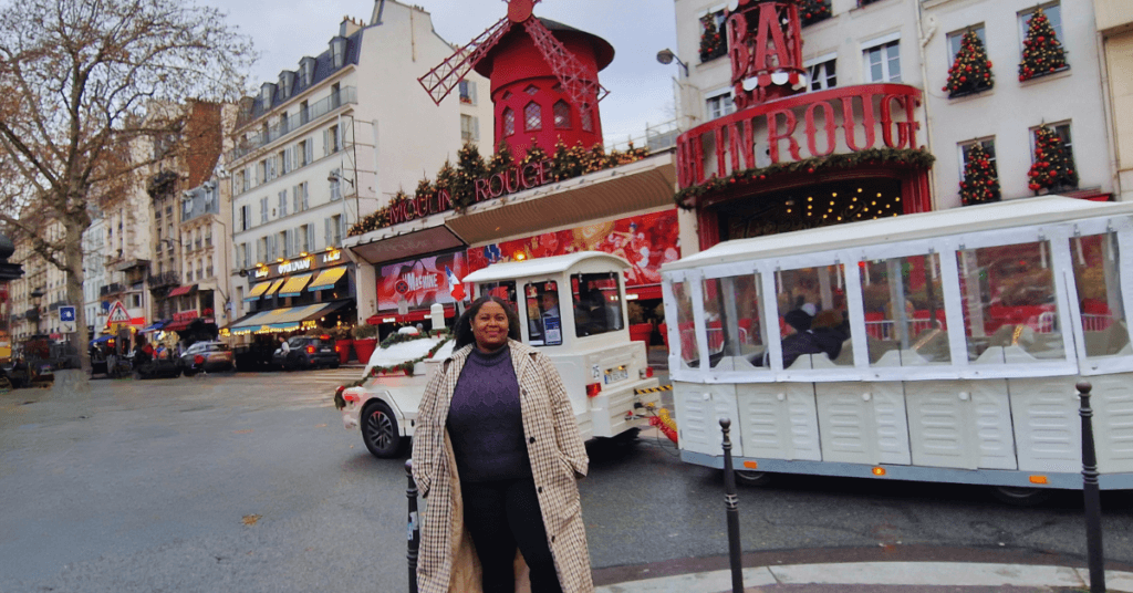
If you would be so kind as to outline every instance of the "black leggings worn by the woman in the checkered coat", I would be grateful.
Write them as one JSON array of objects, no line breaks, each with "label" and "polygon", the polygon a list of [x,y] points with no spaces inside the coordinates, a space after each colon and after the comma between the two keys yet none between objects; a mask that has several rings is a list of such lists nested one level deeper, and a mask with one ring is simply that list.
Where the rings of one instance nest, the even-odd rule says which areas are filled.
[{"label": "black leggings worn by the woman in the checkered coat", "polygon": [[484,569],[484,593],[513,593],[516,548],[531,569],[531,593],[562,593],[535,482],[462,482],[465,524]]}]

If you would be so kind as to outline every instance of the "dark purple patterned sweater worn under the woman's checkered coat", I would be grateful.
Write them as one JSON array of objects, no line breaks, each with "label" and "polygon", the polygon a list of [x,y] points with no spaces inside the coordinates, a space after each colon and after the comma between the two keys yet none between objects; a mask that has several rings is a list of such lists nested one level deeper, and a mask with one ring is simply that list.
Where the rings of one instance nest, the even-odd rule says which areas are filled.
[{"label": "dark purple patterned sweater worn under the woman's checkered coat", "polygon": [[472,349],[452,392],[448,429],[461,482],[531,475],[510,348]]}]

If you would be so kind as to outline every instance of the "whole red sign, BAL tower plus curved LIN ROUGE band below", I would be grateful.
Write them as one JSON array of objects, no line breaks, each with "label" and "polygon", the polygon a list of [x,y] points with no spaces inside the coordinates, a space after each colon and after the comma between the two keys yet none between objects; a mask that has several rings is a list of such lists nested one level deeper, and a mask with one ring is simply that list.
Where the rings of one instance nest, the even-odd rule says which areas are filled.
[{"label": "whole red sign, BAL tower plus curved LIN ROUGE band below", "polygon": [[[726,32],[739,111],[678,138],[680,186],[742,169],[879,147],[917,149],[921,93],[867,84],[802,93],[798,0],[732,0]],[[764,159],[764,155],[767,158]]]}]

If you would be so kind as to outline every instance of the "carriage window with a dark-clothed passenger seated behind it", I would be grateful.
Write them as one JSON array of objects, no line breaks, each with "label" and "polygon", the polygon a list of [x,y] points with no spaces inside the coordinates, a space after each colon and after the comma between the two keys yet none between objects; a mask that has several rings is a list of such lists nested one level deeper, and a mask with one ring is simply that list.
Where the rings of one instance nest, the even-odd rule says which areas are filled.
[{"label": "carriage window with a dark-clothed passenger seated behind it", "polygon": [[807,354],[825,354],[838,366],[853,366],[841,264],[776,272],[775,295],[784,368]]}]

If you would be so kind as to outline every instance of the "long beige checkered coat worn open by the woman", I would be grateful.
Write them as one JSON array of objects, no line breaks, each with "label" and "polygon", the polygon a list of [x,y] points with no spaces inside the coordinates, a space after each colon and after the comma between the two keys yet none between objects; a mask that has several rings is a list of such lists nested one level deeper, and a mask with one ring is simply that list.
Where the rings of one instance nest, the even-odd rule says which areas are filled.
[{"label": "long beige checkered coat worn open by the woman", "polygon": [[[546,355],[514,340],[509,346],[519,381],[531,474],[559,582],[565,593],[594,591],[576,483],[586,475],[590,460],[570,398]],[[479,560],[463,525],[460,480],[445,430],[452,391],[471,349],[467,346],[453,353],[429,381],[414,433],[414,480],[426,499],[417,564],[420,593],[480,593]],[[527,567],[517,557],[517,592],[529,591]]]}]

